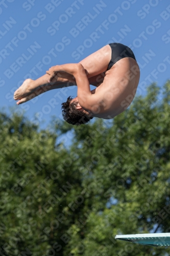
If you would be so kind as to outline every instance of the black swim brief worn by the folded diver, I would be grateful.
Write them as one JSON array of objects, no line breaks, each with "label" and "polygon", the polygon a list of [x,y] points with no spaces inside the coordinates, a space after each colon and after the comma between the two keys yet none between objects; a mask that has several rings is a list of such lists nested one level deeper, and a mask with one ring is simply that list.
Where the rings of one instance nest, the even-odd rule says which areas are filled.
[{"label": "black swim brief worn by the folded diver", "polygon": [[135,59],[134,53],[128,46],[119,44],[117,42],[113,42],[112,44],[109,44],[109,46],[112,49],[112,55],[111,55],[111,60],[109,62],[109,66],[107,70],[111,69],[111,67],[120,59],[123,59],[126,57],[131,57]]}]

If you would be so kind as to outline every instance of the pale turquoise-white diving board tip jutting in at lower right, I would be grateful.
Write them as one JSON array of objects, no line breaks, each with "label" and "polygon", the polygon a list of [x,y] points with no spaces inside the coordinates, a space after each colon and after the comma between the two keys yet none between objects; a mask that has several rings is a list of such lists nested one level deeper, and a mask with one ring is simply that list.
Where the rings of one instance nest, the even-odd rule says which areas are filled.
[{"label": "pale turquoise-white diving board tip jutting in at lower right", "polygon": [[150,246],[170,246],[170,233],[117,234],[115,239]]}]

